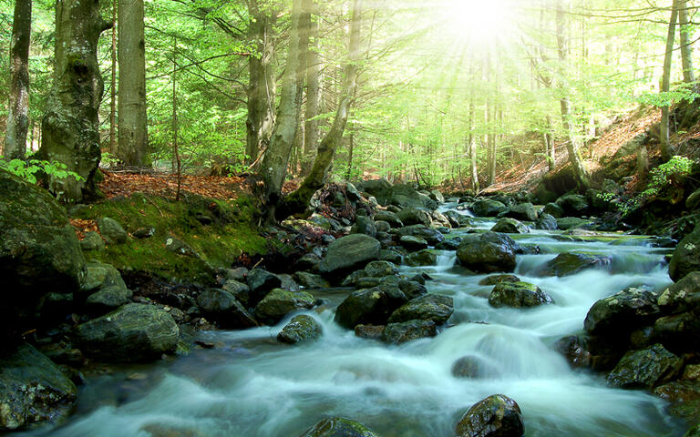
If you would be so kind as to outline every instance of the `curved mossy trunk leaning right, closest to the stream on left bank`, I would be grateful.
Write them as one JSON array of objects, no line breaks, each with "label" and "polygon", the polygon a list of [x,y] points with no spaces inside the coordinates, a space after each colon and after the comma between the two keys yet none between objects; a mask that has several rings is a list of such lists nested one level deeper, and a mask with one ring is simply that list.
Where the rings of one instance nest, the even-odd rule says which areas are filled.
[{"label": "curved mossy trunk leaning right, closest to the stream on left bank", "polygon": [[284,208],[280,208],[278,219],[284,219],[289,215],[303,212],[309,200],[319,188],[325,183],[328,168],[333,163],[335,150],[343,140],[347,117],[350,107],[355,99],[357,89],[357,63],[360,56],[360,29],[362,27],[362,0],[353,0],[352,21],[350,23],[350,44],[348,46],[348,60],[345,66],[345,80],[343,83],[342,95],[335,112],[335,119],[331,130],[321,140],[318,146],[318,153],[314,159],[314,166],[308,176],[304,178],[302,185],[292,194],[284,198]]}]

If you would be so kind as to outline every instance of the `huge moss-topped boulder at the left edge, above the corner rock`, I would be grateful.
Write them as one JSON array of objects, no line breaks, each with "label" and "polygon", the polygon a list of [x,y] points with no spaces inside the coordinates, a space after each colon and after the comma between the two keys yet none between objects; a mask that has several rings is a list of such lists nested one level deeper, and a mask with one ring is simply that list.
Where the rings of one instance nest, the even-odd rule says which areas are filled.
[{"label": "huge moss-topped boulder at the left edge, above the corner rock", "polygon": [[40,298],[71,293],[85,259],[66,212],[42,188],[0,169],[0,336],[27,328]]}]

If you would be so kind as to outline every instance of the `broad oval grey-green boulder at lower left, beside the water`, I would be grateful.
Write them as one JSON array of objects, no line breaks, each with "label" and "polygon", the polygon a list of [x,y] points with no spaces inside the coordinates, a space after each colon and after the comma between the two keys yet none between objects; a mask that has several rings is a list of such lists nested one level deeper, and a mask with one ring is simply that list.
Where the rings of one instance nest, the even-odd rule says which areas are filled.
[{"label": "broad oval grey-green boulder at lower left, beside the water", "polygon": [[129,303],[77,325],[76,340],[100,361],[149,361],[173,351],[180,330],[170,314],[152,305]]}]

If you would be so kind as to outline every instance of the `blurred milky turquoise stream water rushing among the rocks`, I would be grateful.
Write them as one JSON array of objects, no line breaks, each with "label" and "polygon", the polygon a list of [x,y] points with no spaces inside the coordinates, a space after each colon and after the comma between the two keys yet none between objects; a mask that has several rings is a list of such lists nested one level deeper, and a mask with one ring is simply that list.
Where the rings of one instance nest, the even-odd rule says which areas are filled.
[{"label": "blurred milky turquoise stream water rushing among the rocks", "polygon": [[[493,222],[480,221],[488,229]],[[453,231],[448,236],[459,235]],[[436,338],[386,346],[355,337],[333,321],[348,290],[314,292],[327,303],[307,311],[324,327],[313,344],[287,346],[274,327],[201,333],[211,351],[149,366],[125,367],[91,378],[77,414],[54,428],[26,435],[149,436],[164,425],[202,436],[297,436],[321,418],[341,415],[385,437],[452,436],[461,414],[490,394],[518,401],[527,436],[679,436],[685,424],[664,412],[644,391],[605,386],[588,371],[573,371],[553,343],[582,330],[592,304],[625,287],[659,290],[670,283],[666,249],[654,239],[630,236],[571,238],[536,231],[516,236],[538,255],[519,255],[516,274],[537,284],[555,303],[530,310],[492,309],[485,275],[454,269],[455,252],[441,252],[426,271],[428,290],[454,298],[455,313]],[[565,278],[532,272],[566,251],[612,257],[602,269]],[[291,316],[290,316],[291,317]],[[489,378],[457,379],[451,366],[478,356]],[[168,434],[170,435],[170,434]],[[180,435],[180,434],[173,434]]]}]

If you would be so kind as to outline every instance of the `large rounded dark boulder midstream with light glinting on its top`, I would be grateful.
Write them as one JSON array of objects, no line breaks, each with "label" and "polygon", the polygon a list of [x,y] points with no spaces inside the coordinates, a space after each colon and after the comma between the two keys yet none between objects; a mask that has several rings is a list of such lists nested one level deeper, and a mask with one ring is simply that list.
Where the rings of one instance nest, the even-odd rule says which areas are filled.
[{"label": "large rounded dark boulder midstream with light glinting on its top", "polygon": [[515,269],[515,249],[515,241],[505,234],[471,234],[459,243],[457,258],[463,267],[476,272],[508,272]]}]

